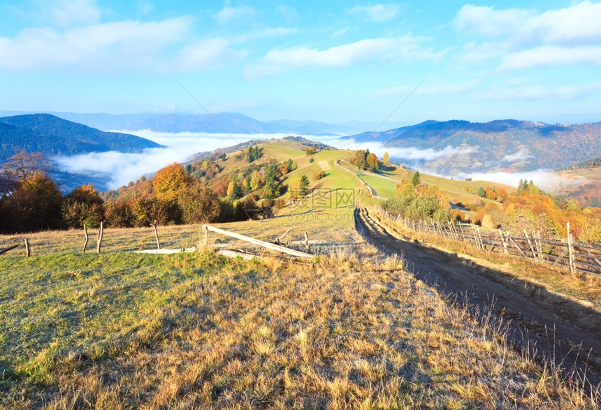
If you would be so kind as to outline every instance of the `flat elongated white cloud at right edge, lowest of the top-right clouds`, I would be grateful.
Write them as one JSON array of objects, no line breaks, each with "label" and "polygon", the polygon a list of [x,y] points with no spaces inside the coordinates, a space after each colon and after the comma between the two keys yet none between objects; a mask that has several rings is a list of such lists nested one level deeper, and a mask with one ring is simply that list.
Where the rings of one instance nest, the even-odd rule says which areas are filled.
[{"label": "flat elongated white cloud at right edge, lowest of the top-right clouds", "polygon": [[601,65],[601,45],[581,47],[535,47],[506,54],[501,61],[501,70],[550,66],[555,64],[594,64]]}]

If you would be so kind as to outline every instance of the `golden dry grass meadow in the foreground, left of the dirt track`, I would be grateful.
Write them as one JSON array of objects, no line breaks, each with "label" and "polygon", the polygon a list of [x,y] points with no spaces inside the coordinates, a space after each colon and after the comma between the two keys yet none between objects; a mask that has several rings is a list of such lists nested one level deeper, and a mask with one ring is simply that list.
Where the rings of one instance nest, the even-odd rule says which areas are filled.
[{"label": "golden dry grass meadow in the foreground, left of the dirt track", "polygon": [[[67,265],[55,261],[60,257],[45,256],[46,268],[32,273],[32,258],[3,258],[0,275],[34,284],[41,271]],[[50,305],[33,292],[0,300],[3,309],[29,314],[29,322],[1,328],[1,406],[598,406],[579,386],[512,351],[502,326],[480,325],[402,270],[403,261],[381,258],[372,247],[338,249],[308,265],[210,254],[154,256],[153,263],[110,257],[121,263],[118,272],[84,274],[81,264],[92,262],[71,261],[74,277],[45,282]],[[128,270],[132,263],[138,267]],[[9,281],[0,286],[0,294],[11,288]],[[95,309],[89,323],[63,318],[63,337],[23,327],[48,323],[52,306],[67,299]],[[30,338],[38,344],[21,349]]]}]

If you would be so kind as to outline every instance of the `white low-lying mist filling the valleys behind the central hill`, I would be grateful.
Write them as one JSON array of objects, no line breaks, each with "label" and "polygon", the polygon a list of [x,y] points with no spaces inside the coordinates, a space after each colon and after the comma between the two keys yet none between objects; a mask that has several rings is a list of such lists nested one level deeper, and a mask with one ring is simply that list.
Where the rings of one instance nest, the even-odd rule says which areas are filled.
[{"label": "white low-lying mist filling the valleys behind the central hill", "polygon": [[[213,151],[215,149],[230,147],[240,142],[249,140],[263,140],[268,138],[284,138],[287,134],[214,134],[214,133],[159,133],[150,130],[118,131],[130,133],[147,138],[166,148],[145,149],[144,152],[131,154],[124,152],[92,152],[75,156],[59,156],[54,160],[61,170],[69,173],[87,175],[111,175],[108,188],[117,189],[127,185],[130,181],[138,180],[142,175],[150,175],[170,163],[183,163],[191,155],[198,152]],[[459,154],[470,154],[474,149],[470,147],[445,147],[435,150],[431,148],[418,149],[416,147],[384,147],[380,142],[356,142],[352,139],[341,139],[340,136],[303,136],[309,140],[318,140],[339,149],[366,149],[374,152],[380,159],[384,152],[388,152],[391,160],[398,161],[433,161]],[[420,166],[414,167],[420,172]],[[426,171],[426,173],[428,173]],[[533,180],[537,186],[545,191],[554,191],[561,186],[579,184],[578,180],[560,177],[550,170],[535,170],[517,173],[460,173],[458,175],[440,175],[454,179],[471,177],[473,180],[484,180],[517,186],[519,180]],[[104,189],[105,187],[99,187]]]}]

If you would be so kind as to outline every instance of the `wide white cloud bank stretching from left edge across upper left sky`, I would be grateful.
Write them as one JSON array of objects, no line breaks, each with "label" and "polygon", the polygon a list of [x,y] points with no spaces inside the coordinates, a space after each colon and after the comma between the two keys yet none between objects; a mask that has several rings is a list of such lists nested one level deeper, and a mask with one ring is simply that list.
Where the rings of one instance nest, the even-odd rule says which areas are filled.
[{"label": "wide white cloud bank stretching from left edge across upper left sky", "polygon": [[245,57],[224,38],[208,38],[167,55],[168,46],[189,35],[192,20],[175,17],[158,22],[126,20],[57,31],[24,29],[14,38],[0,37],[0,67],[15,71],[70,68],[75,72],[182,72],[219,68]]}]

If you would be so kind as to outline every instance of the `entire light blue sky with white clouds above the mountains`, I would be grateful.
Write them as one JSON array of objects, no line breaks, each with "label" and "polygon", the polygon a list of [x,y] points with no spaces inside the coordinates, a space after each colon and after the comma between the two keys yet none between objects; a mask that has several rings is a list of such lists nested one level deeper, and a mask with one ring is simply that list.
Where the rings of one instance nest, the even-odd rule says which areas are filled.
[{"label": "entire light blue sky with white clouds above the mountains", "polygon": [[[0,110],[601,121],[601,2],[0,4]],[[382,129],[386,129],[386,125]],[[391,128],[391,127],[388,127]]]}]

